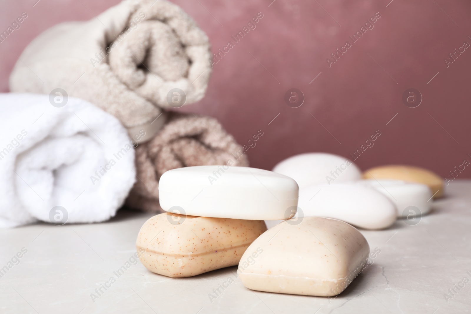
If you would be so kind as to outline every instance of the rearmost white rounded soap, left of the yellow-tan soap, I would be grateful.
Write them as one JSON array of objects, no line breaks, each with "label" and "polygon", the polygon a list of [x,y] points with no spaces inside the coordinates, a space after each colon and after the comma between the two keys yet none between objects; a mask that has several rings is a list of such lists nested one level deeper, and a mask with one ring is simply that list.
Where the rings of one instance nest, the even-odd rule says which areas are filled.
[{"label": "rearmost white rounded soap, left of the yellow-tan soap", "polygon": [[300,189],[319,183],[359,180],[360,169],[349,159],[329,153],[304,153],[279,162],[274,172],[292,177]]}]

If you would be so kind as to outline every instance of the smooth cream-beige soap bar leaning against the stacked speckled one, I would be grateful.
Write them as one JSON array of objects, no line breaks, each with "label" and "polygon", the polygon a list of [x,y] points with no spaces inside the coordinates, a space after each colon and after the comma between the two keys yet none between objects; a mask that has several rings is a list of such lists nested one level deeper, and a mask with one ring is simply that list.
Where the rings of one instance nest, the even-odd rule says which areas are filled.
[{"label": "smooth cream-beige soap bar leaning against the stacked speckled one", "polygon": [[368,242],[342,221],[286,220],[260,235],[240,259],[237,273],[252,290],[331,297],[366,267]]}]

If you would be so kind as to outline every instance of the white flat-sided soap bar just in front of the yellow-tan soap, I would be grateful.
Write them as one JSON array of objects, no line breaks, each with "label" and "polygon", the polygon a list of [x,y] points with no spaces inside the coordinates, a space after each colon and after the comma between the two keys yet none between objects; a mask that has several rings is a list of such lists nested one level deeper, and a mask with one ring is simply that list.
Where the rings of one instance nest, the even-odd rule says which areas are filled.
[{"label": "white flat-sided soap bar just in front of the yellow-tan soap", "polygon": [[[432,191],[427,185],[388,179],[360,180],[357,183],[383,193],[396,205],[398,217],[408,217],[411,214],[425,215],[430,211],[433,201]],[[416,207],[420,212],[416,212],[417,210],[411,206]]]}]

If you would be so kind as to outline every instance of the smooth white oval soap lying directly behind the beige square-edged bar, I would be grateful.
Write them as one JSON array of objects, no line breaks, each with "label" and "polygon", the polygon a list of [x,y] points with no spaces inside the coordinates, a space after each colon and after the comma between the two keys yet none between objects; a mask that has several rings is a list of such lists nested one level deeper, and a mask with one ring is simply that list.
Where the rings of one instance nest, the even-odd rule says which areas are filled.
[{"label": "smooth white oval soap lying directly behind the beige square-edged bar", "polygon": [[397,219],[396,206],[386,196],[355,182],[300,189],[298,206],[300,217],[330,217],[364,229],[384,229]]}]

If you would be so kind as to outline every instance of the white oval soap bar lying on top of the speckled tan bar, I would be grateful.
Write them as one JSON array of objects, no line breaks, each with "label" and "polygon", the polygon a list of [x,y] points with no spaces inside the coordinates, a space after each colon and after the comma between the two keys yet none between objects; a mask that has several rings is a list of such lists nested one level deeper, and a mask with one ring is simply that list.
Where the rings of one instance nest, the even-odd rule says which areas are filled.
[{"label": "white oval soap bar lying on top of the speckled tan bar", "polygon": [[160,177],[160,206],[180,214],[252,220],[286,219],[298,204],[298,185],[256,168],[196,166]]}]

